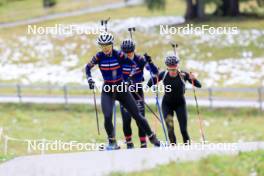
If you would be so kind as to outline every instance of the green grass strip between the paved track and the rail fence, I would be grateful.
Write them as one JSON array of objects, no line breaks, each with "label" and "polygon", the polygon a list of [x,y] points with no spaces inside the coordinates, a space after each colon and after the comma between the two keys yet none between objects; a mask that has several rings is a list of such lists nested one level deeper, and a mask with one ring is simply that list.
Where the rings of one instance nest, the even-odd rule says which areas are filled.
[{"label": "green grass strip between the paved track and the rail fence", "polygon": [[[155,109],[155,107],[152,107]],[[118,108],[119,109],[119,108]],[[154,116],[147,111],[146,117],[159,138],[164,139],[162,128]],[[193,141],[200,140],[196,110],[188,108],[189,133]],[[209,142],[236,142],[264,140],[264,115],[256,109],[207,109],[201,108],[201,116],[205,120],[205,134]],[[97,135],[96,118],[93,106],[70,105],[65,109],[63,105],[32,105],[32,104],[1,104],[0,127],[4,134],[18,139],[49,139],[78,141],[78,142],[106,142],[103,128],[103,114],[99,111],[101,135]],[[178,123],[175,120],[175,132],[181,142]],[[134,142],[139,145],[137,127],[132,123]],[[117,112],[117,139],[123,140],[122,121]],[[123,146],[124,147],[124,146]],[[0,156],[12,158],[27,155],[26,143],[10,141],[8,155],[3,153],[3,142],[0,143]],[[47,153],[63,151],[47,151]],[[65,151],[64,151],[65,152]],[[72,151],[74,152],[74,151]],[[32,151],[31,154],[39,154]]]}]

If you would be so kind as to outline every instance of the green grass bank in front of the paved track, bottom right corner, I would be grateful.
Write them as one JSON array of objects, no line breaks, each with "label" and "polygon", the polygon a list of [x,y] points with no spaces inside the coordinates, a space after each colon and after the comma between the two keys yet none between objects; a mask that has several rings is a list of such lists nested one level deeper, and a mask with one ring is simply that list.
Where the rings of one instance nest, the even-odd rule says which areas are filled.
[{"label": "green grass bank in front of the paved track, bottom right corner", "polygon": [[112,173],[112,176],[248,176],[264,175],[264,150],[241,152],[235,156],[213,155],[200,161],[172,162],[147,171],[134,173]]}]

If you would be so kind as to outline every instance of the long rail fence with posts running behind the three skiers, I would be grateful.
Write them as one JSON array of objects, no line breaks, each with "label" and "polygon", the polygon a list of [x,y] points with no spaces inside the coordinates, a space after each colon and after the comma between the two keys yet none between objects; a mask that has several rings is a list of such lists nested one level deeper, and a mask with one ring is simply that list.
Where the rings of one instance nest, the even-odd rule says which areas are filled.
[{"label": "long rail fence with posts running behind the three skiers", "polygon": [[[13,89],[14,91],[12,91],[12,93],[10,93],[10,89]],[[39,90],[39,91],[59,91],[60,94],[44,94],[43,92],[37,94],[37,95],[24,95],[23,93],[25,91],[28,90]],[[73,98],[81,98],[81,97],[86,97],[86,98],[90,98],[87,97],[87,94],[80,94],[78,96],[74,96],[74,95],[70,95],[70,91],[89,91],[88,86],[86,85],[23,85],[23,84],[0,84],[0,102],[5,102],[5,101],[1,101],[1,98],[6,98],[9,97],[11,99],[11,97],[13,98],[12,100],[14,100],[14,98],[16,99],[16,102],[19,103],[23,103],[23,100],[25,98],[27,99],[36,99],[36,98],[46,98],[46,99],[51,99],[54,98],[57,100],[63,100],[63,102],[60,103],[64,103],[65,106],[68,106],[68,104],[70,104],[71,102],[69,101],[70,99]],[[187,93],[190,90],[190,88],[187,88]],[[9,92],[9,93],[5,93]],[[208,102],[208,106],[213,108],[215,107],[214,102],[217,101],[234,101],[236,100],[238,101],[248,101],[248,103],[250,104],[250,102],[254,102],[255,104],[258,104],[258,108],[260,110],[263,109],[263,92],[264,92],[264,88],[263,87],[259,87],[259,88],[216,88],[216,87],[210,87],[210,88],[201,88],[201,89],[197,89],[198,93],[203,93],[203,97],[199,97],[199,99],[203,99],[203,100],[207,100]],[[191,93],[191,92],[190,92]],[[216,94],[219,93],[229,93],[232,95],[229,96],[225,96],[225,95],[221,95],[221,96],[217,96]],[[251,94],[248,96],[245,96],[245,94]],[[240,97],[238,99],[233,99],[233,95],[241,95],[243,97]],[[252,95],[254,95],[255,97],[252,97]],[[146,98],[148,98],[148,96],[146,96]],[[192,99],[191,96],[186,96],[187,99]],[[43,100],[44,101],[44,100]],[[8,102],[8,100],[7,100]],[[13,101],[14,102],[14,101]],[[47,102],[49,103],[49,102]],[[51,101],[52,103],[52,101]],[[82,103],[82,101],[80,100],[79,103]],[[85,103],[85,102],[83,102]]]}]

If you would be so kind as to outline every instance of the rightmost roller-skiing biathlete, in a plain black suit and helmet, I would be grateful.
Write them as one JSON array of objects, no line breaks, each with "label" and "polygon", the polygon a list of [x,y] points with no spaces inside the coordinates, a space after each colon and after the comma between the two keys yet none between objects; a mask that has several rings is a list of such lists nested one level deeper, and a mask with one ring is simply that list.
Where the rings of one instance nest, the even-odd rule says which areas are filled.
[{"label": "rightmost roller-skiing biathlete, in a plain black suit and helmet", "polygon": [[188,118],[186,101],[184,97],[185,83],[188,81],[192,84],[193,81],[194,86],[198,88],[201,88],[202,85],[192,73],[180,71],[179,62],[180,60],[178,56],[166,57],[165,64],[167,66],[167,71],[160,72],[158,78],[154,78],[154,81],[149,80],[147,84],[151,87],[153,84],[157,84],[158,81],[162,81],[164,86],[167,87],[165,90],[170,90],[165,91],[162,99],[162,112],[166,121],[170,143],[177,143],[173,123],[173,115],[175,112],[179,122],[183,142],[185,144],[190,144],[190,136],[187,130]]}]

